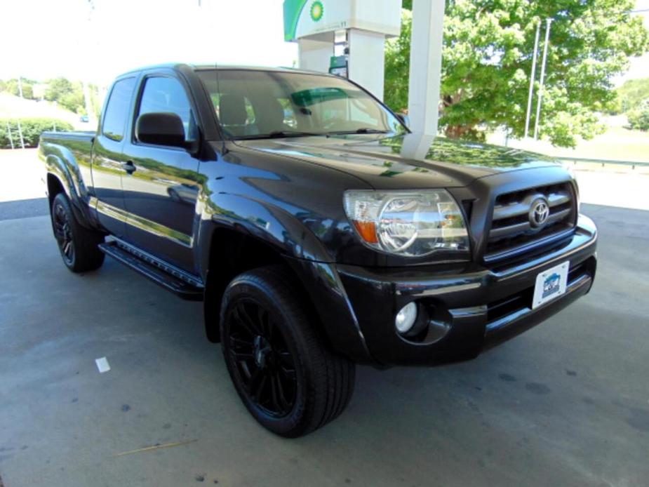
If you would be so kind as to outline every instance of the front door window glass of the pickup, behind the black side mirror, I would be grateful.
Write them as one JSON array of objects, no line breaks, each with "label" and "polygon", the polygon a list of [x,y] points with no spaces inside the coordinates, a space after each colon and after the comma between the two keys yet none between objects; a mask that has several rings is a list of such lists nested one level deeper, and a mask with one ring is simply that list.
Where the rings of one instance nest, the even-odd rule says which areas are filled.
[{"label": "front door window glass of the pickup, behind the black side mirror", "polygon": [[185,127],[185,140],[196,140],[196,121],[189,105],[189,98],[180,81],[167,76],[147,78],[138,116],[145,113],[175,113]]}]

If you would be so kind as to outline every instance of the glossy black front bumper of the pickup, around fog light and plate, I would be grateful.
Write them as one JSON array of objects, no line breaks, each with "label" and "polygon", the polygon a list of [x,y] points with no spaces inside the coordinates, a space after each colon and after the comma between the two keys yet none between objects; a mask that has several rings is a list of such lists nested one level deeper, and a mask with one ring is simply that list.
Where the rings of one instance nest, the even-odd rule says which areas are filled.
[{"label": "glossy black front bumper of the pickup, around fog light and plate", "polygon": [[[368,269],[337,265],[337,272],[377,363],[435,365],[472,359],[588,293],[596,272],[596,241],[594,223],[580,215],[568,241],[509,266]],[[566,293],[532,309],[537,274],[567,260]],[[416,337],[405,338],[394,328],[394,316],[413,301],[423,316],[423,328]]]}]

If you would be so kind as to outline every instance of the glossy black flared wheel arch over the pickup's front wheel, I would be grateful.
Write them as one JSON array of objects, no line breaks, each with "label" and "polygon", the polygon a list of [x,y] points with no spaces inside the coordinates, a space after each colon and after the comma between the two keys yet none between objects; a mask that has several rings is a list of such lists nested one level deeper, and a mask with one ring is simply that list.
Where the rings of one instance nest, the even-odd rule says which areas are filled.
[{"label": "glossy black flared wheel arch over the pickup's front wheel", "polygon": [[[374,363],[335,263],[319,239],[281,208],[242,196],[226,196],[219,199],[218,212],[203,213],[196,246],[206,283],[208,339],[220,340],[219,312],[229,282],[246,270],[279,264],[295,279],[297,292],[303,293],[312,316],[317,318],[316,326],[333,349],[354,361]],[[241,208],[254,218],[246,218]]]}]

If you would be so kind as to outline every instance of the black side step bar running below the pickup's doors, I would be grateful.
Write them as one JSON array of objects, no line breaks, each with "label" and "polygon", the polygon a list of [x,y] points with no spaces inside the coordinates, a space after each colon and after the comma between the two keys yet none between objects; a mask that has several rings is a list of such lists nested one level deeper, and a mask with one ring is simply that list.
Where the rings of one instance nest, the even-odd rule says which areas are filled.
[{"label": "black side step bar running below the pickup's doors", "polygon": [[148,277],[167,291],[178,295],[179,298],[191,301],[203,300],[203,283],[178,267],[114,237],[105,244],[100,244],[99,248],[106,255]]}]

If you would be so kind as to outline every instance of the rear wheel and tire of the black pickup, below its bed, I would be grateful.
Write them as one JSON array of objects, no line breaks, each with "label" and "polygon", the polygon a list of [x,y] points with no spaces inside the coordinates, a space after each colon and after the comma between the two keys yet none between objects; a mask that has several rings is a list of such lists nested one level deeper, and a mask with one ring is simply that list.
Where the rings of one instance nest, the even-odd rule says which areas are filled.
[{"label": "rear wheel and tire of the black pickup, below its bed", "polygon": [[101,267],[104,253],[98,245],[104,241],[104,236],[79,225],[64,193],[54,197],[51,218],[54,237],[65,267],[72,272],[93,271]]}]

